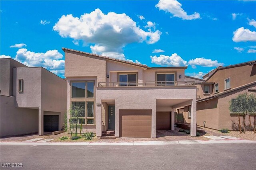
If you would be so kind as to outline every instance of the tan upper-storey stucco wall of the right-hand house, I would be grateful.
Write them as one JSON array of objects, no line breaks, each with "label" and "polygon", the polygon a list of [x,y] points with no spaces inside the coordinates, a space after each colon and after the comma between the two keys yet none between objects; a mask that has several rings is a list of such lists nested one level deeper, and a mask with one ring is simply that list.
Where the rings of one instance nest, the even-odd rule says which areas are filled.
[{"label": "tan upper-storey stucco wall of the right-hand house", "polygon": [[256,65],[239,66],[218,70],[207,82],[219,85],[219,92],[224,91],[224,80],[230,78],[231,89],[256,81]]}]

